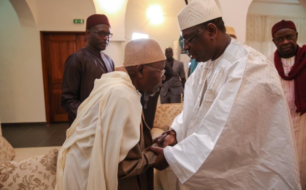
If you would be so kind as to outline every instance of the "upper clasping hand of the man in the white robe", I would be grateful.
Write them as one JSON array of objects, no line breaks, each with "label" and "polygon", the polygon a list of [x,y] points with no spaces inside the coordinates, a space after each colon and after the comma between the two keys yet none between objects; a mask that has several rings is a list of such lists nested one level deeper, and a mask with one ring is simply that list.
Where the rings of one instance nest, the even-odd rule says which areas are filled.
[{"label": "upper clasping hand of the man in the white robe", "polygon": [[174,146],[177,144],[176,132],[174,130],[165,131],[154,139],[154,143],[162,148],[167,146]]}]

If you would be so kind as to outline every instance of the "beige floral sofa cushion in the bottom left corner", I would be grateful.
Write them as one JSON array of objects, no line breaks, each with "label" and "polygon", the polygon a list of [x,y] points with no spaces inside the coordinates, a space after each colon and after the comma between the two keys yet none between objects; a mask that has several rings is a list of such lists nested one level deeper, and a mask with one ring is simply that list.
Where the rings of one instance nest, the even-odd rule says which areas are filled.
[{"label": "beige floral sofa cushion in the bottom left corner", "polygon": [[21,161],[0,161],[0,189],[54,189],[58,150]]}]

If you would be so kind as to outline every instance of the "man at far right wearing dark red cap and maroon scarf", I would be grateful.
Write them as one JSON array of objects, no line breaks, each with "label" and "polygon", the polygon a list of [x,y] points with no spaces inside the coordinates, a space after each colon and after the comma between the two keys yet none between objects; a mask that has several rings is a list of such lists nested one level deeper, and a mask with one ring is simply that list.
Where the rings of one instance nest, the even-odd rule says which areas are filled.
[{"label": "man at far right wearing dark red cap and maroon scarf", "polygon": [[306,45],[297,45],[297,31],[290,20],[272,27],[272,41],[277,47],[270,60],[275,64],[287,99],[299,159],[302,189],[306,189]]}]

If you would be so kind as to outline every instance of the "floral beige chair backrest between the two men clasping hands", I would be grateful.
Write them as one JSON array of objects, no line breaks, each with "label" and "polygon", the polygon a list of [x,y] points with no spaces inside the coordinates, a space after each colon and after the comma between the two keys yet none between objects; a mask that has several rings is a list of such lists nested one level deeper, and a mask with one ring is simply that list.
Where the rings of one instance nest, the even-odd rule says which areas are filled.
[{"label": "floral beige chair backrest between the two men clasping hands", "polygon": [[174,118],[183,110],[183,103],[161,104],[156,108],[153,127],[167,131]]}]

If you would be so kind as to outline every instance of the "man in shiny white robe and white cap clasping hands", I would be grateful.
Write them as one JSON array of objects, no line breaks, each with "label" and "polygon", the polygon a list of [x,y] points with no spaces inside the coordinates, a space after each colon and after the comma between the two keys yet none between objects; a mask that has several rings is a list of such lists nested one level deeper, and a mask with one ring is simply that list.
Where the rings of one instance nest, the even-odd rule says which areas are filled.
[{"label": "man in shiny white robe and white cap clasping hands", "polygon": [[[155,167],[181,189],[301,189],[290,111],[274,65],[225,33],[213,0],[177,16],[184,50],[201,62],[184,109],[155,139]],[[168,146],[169,145],[169,146]]]}]

